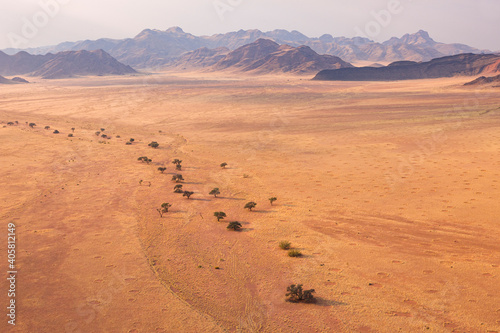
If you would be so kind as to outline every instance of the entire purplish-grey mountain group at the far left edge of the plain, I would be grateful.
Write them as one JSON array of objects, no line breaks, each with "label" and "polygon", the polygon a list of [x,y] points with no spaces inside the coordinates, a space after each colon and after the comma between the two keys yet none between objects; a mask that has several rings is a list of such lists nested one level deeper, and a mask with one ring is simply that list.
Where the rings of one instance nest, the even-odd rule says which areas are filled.
[{"label": "entire purplish-grey mountain group at the far left edge of the plain", "polygon": [[0,74],[29,74],[44,79],[76,75],[123,75],[135,73],[103,50],[65,51],[57,54],[31,55],[20,52],[9,56],[0,52]]}]

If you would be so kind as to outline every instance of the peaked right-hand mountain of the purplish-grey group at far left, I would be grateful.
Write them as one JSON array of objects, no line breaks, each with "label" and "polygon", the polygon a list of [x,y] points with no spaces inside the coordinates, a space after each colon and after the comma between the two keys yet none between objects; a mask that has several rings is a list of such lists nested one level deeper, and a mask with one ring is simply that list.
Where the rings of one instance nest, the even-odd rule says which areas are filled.
[{"label": "peaked right-hand mountain of the purplish-grey group at far left", "polygon": [[124,75],[136,73],[103,50],[66,51],[57,53],[44,63],[33,76],[43,79],[61,79],[81,75]]}]

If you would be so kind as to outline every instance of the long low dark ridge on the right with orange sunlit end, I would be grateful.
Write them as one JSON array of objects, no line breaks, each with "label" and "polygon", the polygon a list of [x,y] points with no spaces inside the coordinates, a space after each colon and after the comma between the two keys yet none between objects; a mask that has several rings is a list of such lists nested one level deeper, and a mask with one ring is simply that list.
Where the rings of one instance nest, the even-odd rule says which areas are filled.
[{"label": "long low dark ridge on the right with orange sunlit end", "polygon": [[442,57],[428,62],[399,61],[379,68],[358,67],[323,70],[314,79],[330,81],[391,81],[492,73],[500,73],[499,55],[469,53]]}]

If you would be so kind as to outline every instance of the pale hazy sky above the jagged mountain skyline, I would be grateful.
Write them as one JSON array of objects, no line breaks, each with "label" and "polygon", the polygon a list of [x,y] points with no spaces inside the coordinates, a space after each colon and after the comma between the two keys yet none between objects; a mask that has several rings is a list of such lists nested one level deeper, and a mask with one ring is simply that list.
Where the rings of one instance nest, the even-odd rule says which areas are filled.
[{"label": "pale hazy sky above the jagged mountain skyline", "polygon": [[436,41],[500,50],[500,0],[1,0],[0,49],[133,37],[298,30],[375,41],[427,30]]}]

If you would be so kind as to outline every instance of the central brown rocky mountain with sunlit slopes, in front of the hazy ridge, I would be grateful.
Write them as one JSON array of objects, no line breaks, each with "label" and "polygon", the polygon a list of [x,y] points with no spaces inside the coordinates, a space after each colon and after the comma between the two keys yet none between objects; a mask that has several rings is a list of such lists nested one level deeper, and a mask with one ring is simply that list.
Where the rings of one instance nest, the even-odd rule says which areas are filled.
[{"label": "central brown rocky mountain with sunlit slopes, in front of the hazy ridge", "polygon": [[252,74],[313,74],[322,69],[353,67],[339,57],[319,55],[308,46],[279,45],[269,39],[241,46],[207,48],[188,52],[172,64],[178,69],[204,68],[206,71],[233,71]]}]

